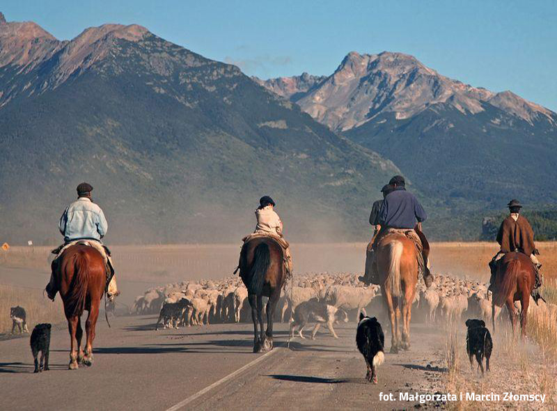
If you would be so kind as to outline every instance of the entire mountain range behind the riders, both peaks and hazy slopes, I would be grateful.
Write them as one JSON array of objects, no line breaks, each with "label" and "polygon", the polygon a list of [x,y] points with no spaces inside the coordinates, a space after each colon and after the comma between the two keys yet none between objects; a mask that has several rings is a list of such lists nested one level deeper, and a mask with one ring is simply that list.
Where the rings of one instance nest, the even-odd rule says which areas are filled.
[{"label": "entire mountain range behind the riders, both peaks and hazy slopes", "polygon": [[274,197],[289,240],[365,240],[393,174],[433,239],[557,200],[557,114],[401,53],[261,80],[132,24],[57,40],[0,13],[0,241],[53,244],[88,181],[108,242],[235,242]]}]

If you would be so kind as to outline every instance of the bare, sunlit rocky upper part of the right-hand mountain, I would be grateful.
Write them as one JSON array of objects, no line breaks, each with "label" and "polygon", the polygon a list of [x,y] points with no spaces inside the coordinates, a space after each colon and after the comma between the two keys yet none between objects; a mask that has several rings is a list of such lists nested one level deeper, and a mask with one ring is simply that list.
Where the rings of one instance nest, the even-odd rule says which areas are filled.
[{"label": "bare, sunlit rocky upper part of the right-hand mountain", "polygon": [[[299,77],[282,77],[281,82],[295,78]],[[269,84],[274,84],[274,79],[263,85],[275,91]],[[531,124],[536,119],[554,123],[556,117],[510,91],[493,93],[464,84],[440,75],[414,56],[398,52],[350,52],[331,76],[306,92],[299,91],[293,101],[337,131],[359,127],[382,113],[394,114],[398,120],[410,118],[434,104],[446,104],[467,115],[485,111],[489,103]]]}]

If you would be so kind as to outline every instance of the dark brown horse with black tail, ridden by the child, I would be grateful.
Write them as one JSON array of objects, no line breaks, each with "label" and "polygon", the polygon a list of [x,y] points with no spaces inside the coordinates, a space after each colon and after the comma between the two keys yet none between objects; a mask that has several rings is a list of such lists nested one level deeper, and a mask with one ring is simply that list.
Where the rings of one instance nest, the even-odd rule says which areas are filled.
[{"label": "dark brown horse with black tail, ridden by the child", "polygon": [[[284,251],[272,238],[253,238],[244,244],[240,254],[240,277],[248,289],[253,319],[253,352],[273,348],[273,315],[286,279]],[[267,302],[267,331],[263,334],[262,297]],[[258,323],[260,333],[258,334]]]}]

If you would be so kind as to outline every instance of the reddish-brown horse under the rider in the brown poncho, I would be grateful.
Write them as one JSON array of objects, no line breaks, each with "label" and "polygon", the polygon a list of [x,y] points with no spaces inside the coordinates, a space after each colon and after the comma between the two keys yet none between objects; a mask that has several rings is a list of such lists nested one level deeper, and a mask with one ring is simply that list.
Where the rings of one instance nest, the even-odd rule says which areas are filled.
[{"label": "reddish-brown horse under the rider in the brown poncho", "polygon": [[526,336],[526,320],[528,317],[528,305],[530,304],[530,293],[535,283],[535,267],[526,254],[513,251],[505,254],[497,264],[495,276],[494,293],[492,298],[492,324],[495,332],[495,306],[507,306],[512,331],[515,332],[517,325],[517,312],[515,301],[520,301],[522,310],[520,313],[521,336]]}]

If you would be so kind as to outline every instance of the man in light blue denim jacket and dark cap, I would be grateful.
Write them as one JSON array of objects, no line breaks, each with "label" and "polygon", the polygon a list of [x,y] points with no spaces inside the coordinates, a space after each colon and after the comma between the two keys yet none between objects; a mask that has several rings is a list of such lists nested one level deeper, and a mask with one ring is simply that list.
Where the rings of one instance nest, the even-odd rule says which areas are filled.
[{"label": "man in light blue denim jacket and dark cap", "polygon": [[85,241],[87,245],[95,248],[104,258],[104,264],[107,268],[106,289],[108,297],[113,300],[116,295],[120,294],[116,286],[116,277],[114,276],[110,251],[101,242],[101,239],[107,233],[107,219],[104,218],[101,208],[93,203],[91,198],[92,191],[93,186],[88,183],[78,185],[77,201],[74,201],[65,208],[58,224],[60,233],[64,236],[64,244],[52,251],[53,254],[56,254],[56,258],[52,261],[52,274],[49,284],[45,288],[50,300],[54,301],[54,297],[56,297],[56,293],[59,291],[56,289],[54,282],[54,270],[58,262],[58,256],[68,247],[76,245],[81,241]]}]

